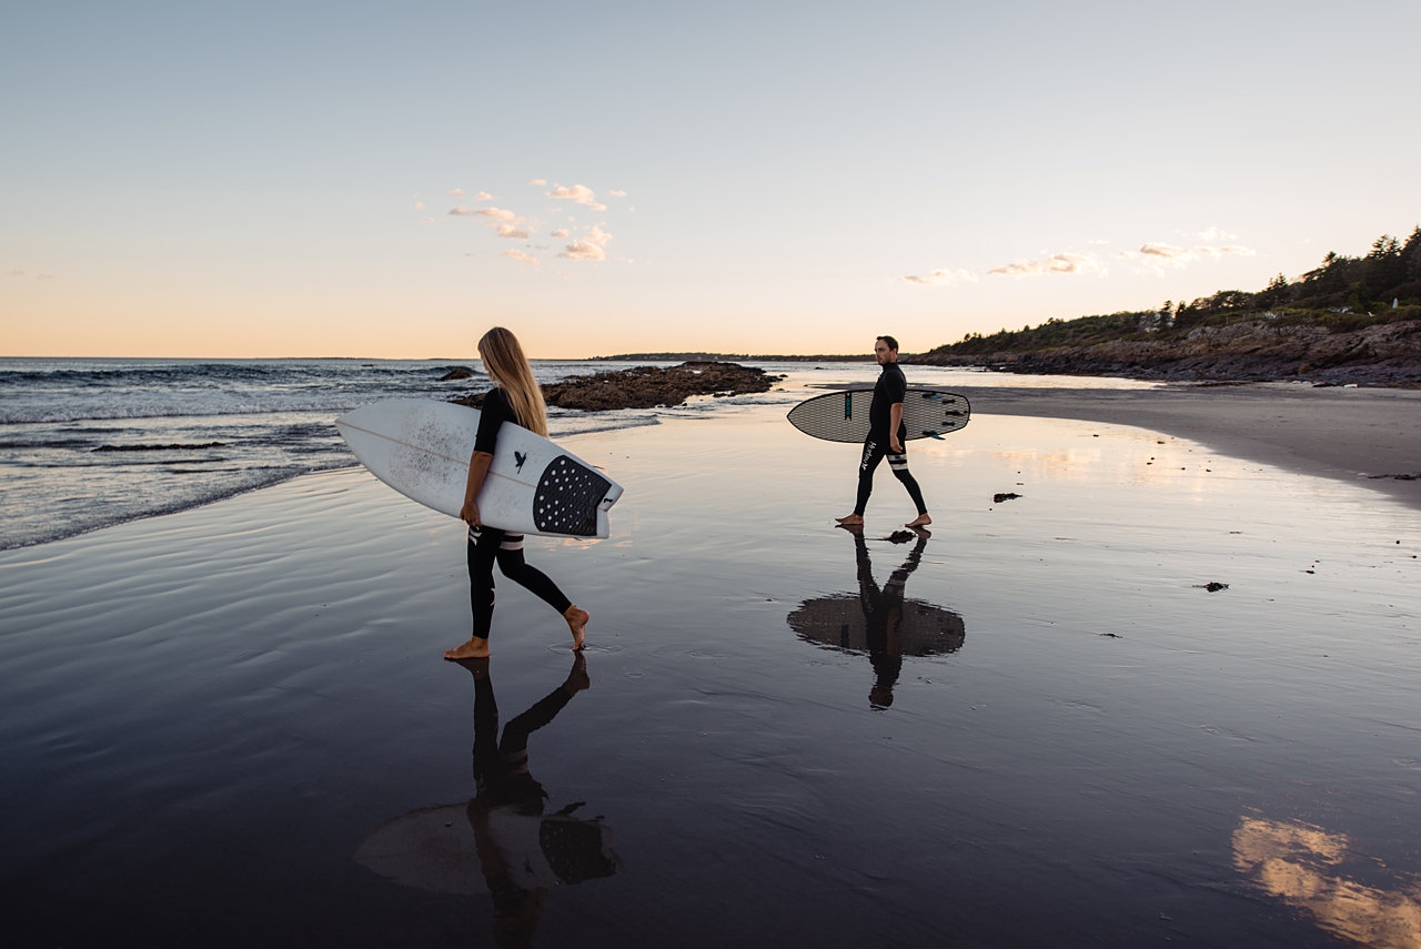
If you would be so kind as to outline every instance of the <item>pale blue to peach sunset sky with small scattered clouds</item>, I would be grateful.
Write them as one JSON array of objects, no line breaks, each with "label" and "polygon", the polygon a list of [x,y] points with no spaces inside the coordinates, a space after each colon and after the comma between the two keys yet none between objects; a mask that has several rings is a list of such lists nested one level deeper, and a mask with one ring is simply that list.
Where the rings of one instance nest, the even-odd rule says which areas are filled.
[{"label": "pale blue to peach sunset sky with small scattered clouds", "polygon": [[924,351],[1421,223],[1414,0],[64,3],[0,355]]}]

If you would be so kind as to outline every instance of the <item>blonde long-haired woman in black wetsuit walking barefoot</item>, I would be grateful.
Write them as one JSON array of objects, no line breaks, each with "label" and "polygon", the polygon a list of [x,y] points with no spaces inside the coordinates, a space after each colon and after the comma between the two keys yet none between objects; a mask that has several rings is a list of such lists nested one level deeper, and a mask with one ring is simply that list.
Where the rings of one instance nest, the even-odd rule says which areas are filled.
[{"label": "blonde long-haired woman in black wetsuit walking barefoot", "polygon": [[510,534],[479,521],[479,490],[489,474],[499,428],[513,422],[547,438],[547,406],[543,391],[533,378],[533,367],[523,355],[517,337],[503,327],[493,327],[479,340],[479,358],[495,386],[483,396],[479,433],[469,459],[469,484],[463,492],[459,520],[469,524],[469,602],[473,607],[473,635],[456,649],[445,649],[445,659],[477,659],[489,655],[489,629],[493,625],[493,564],[509,580],[527,587],[563,614],[573,631],[573,649],[583,648],[583,635],[591,615],[573,605],[547,574],[523,561],[523,534]]}]

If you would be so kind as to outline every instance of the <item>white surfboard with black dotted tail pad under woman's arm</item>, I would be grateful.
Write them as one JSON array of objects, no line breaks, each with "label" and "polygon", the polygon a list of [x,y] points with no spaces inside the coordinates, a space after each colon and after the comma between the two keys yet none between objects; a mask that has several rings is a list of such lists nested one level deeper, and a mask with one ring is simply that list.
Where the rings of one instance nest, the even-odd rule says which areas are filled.
[{"label": "white surfboard with black dotted tail pad under woman's arm", "polygon": [[[369,473],[425,507],[458,517],[469,480],[479,409],[432,399],[389,399],[335,419]],[[607,537],[621,484],[541,435],[504,422],[479,520],[544,537]]]}]

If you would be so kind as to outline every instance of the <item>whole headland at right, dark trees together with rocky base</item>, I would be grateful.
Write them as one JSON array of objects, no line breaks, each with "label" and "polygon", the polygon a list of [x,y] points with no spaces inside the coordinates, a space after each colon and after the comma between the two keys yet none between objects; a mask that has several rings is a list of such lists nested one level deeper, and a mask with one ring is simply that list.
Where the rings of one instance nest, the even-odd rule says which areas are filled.
[{"label": "whole headland at right, dark trees together with rocky base", "polygon": [[1140,378],[1421,384],[1421,227],[1289,281],[1155,310],[969,332],[902,362]]}]

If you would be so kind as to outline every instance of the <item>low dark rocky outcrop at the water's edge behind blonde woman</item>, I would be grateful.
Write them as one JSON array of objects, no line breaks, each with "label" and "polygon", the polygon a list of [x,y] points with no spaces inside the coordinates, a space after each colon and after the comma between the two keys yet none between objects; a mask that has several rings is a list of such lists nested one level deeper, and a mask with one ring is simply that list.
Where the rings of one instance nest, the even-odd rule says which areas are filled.
[{"label": "low dark rocky outcrop at the water's edge behind blonde woman", "polygon": [[[681,405],[692,395],[769,392],[783,378],[736,362],[682,362],[669,369],[641,365],[544,385],[543,399],[560,409],[584,412],[654,409]],[[466,395],[455,402],[479,408],[483,394]]]}]

